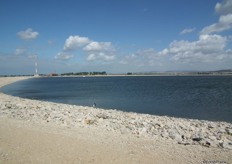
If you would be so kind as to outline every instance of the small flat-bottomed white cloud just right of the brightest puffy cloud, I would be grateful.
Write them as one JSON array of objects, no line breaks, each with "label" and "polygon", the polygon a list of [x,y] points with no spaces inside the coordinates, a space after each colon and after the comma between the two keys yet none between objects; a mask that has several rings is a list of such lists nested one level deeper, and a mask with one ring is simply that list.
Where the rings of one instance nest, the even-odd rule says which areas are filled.
[{"label": "small flat-bottomed white cloud just right of the brightest puffy cloud", "polygon": [[91,42],[86,47],[85,51],[111,51],[113,49],[110,42]]}]

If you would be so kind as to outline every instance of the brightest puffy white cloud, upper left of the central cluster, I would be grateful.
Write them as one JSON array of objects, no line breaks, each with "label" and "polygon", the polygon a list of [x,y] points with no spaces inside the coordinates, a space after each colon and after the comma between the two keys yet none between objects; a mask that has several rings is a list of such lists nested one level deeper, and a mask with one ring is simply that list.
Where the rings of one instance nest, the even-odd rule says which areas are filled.
[{"label": "brightest puffy white cloud, upper left of the central cluster", "polygon": [[64,50],[76,50],[79,49],[91,41],[87,37],[80,37],[78,35],[75,36],[69,36],[68,39],[66,39],[64,44]]}]

